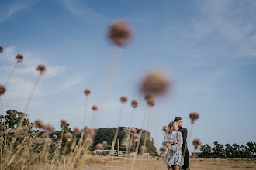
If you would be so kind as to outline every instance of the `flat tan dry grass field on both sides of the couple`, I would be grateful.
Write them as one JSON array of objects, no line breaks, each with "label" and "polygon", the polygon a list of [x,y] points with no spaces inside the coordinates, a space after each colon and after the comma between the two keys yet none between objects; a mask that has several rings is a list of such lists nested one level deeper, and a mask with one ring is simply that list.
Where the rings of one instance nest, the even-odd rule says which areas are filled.
[{"label": "flat tan dry grass field on both sides of the couple", "polygon": [[[127,158],[126,164],[124,158],[115,157],[113,169],[114,170],[125,170],[129,169],[133,158]],[[256,160],[254,159],[238,159],[238,158],[191,158],[190,165],[192,170],[205,170],[205,169],[256,169]],[[141,167],[141,168],[140,168]],[[99,162],[92,163],[88,162],[85,170],[109,170],[111,169],[111,157],[99,158]],[[166,167],[163,164],[163,158],[137,158],[134,170],[138,169],[155,169],[165,170]]]}]

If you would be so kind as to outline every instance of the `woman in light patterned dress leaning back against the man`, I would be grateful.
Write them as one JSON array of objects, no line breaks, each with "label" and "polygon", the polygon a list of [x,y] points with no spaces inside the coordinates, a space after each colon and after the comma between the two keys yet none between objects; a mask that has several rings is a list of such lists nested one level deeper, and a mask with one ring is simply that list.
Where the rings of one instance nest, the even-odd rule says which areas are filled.
[{"label": "woman in light patterned dress leaning back against the man", "polygon": [[[179,170],[179,167],[184,164],[182,156],[182,133],[178,131],[178,124],[176,121],[171,121],[169,124],[171,131],[164,135],[163,145],[168,148],[165,158],[165,164],[168,170]],[[171,144],[171,145],[169,145]]]}]

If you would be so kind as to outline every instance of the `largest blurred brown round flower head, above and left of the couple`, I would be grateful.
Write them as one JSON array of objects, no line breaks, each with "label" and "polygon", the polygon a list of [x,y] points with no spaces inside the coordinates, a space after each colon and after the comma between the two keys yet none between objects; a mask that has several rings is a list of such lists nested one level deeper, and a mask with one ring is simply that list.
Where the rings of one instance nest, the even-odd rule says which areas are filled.
[{"label": "largest blurred brown round flower head, above and left of the couple", "polygon": [[162,95],[168,91],[169,80],[164,74],[159,72],[150,72],[141,82],[140,90],[143,93]]}]

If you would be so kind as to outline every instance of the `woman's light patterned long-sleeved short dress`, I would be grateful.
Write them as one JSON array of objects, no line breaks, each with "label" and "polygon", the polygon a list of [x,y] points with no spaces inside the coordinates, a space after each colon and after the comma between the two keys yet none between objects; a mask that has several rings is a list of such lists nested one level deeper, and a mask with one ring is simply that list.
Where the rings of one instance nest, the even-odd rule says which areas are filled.
[{"label": "woman's light patterned long-sleeved short dress", "polygon": [[173,165],[184,165],[184,158],[182,156],[182,133],[179,131],[170,131],[168,134],[164,134],[164,141],[163,145],[166,147],[166,141],[178,141],[178,144],[172,145],[171,151],[168,150],[166,157],[165,157],[165,165],[171,167]]}]

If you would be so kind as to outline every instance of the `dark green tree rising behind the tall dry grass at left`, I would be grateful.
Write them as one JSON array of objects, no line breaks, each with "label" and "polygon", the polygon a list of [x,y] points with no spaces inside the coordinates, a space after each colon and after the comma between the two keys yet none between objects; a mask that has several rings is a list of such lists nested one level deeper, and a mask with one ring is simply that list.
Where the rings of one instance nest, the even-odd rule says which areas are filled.
[{"label": "dark green tree rising behind the tall dry grass at left", "polygon": [[6,114],[7,115],[5,115],[5,127],[7,129],[17,128],[17,125],[19,124],[19,121],[21,121],[22,117],[24,117],[22,126],[25,126],[27,124],[32,124],[29,122],[29,118],[27,118],[28,114],[18,112],[16,110],[7,110]]}]

